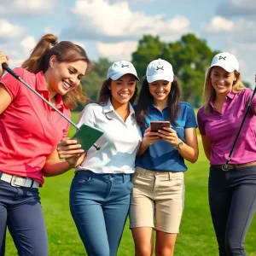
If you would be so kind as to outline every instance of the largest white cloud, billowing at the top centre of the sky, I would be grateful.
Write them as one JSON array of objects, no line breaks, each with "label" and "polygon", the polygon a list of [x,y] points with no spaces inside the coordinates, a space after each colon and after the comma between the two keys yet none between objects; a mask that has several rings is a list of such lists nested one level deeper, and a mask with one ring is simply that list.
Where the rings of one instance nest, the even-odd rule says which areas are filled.
[{"label": "largest white cloud, billowing at the top centre of the sky", "polygon": [[189,31],[190,24],[184,16],[167,20],[164,15],[132,12],[124,0],[117,3],[77,0],[72,13],[75,25],[65,30],[65,34],[105,42],[134,40],[142,38],[143,34],[179,38]]}]

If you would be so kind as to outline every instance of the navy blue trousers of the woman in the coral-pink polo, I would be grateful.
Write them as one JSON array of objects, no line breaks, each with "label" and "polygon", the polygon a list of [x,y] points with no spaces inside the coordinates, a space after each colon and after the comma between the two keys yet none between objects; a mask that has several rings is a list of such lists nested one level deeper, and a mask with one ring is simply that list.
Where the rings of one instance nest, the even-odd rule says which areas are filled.
[{"label": "navy blue trousers of the woman in the coral-pink polo", "polygon": [[20,256],[48,255],[47,234],[38,189],[13,187],[0,180],[0,256],[5,251],[7,226]]}]

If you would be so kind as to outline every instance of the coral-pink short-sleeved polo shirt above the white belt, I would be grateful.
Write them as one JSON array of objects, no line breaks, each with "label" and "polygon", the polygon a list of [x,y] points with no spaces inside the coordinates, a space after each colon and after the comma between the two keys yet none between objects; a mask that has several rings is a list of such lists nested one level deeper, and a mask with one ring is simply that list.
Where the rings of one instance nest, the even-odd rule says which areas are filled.
[{"label": "coral-pink short-sleeved polo shirt above the white belt", "polygon": [[[43,72],[34,74],[15,68],[15,73],[49,101]],[[0,114],[0,171],[31,177],[42,185],[41,170],[46,157],[67,136],[69,123],[10,74],[0,79],[0,84],[12,98],[9,107]],[[56,96],[55,107],[70,118],[61,95]]]}]

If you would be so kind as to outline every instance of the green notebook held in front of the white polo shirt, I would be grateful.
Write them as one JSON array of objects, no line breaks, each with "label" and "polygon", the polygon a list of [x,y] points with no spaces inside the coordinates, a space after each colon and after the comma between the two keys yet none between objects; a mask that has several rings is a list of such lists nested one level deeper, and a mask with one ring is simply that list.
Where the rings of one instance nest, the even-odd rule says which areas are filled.
[{"label": "green notebook held in front of the white polo shirt", "polygon": [[82,145],[84,151],[87,152],[88,149],[92,147],[100,137],[102,137],[103,133],[104,131],[96,127],[83,124],[73,135],[72,139],[77,140],[78,143]]}]

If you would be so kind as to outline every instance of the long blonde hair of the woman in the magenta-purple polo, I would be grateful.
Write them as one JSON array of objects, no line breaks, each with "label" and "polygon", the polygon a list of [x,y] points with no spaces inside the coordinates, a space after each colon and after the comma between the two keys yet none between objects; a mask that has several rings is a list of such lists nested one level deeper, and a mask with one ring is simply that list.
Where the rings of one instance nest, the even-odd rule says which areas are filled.
[{"label": "long blonde hair of the woman in the magenta-purple polo", "polygon": [[[232,86],[232,92],[238,93],[239,91],[246,89],[246,87],[241,82],[241,74],[236,70],[234,71],[234,73],[236,76],[236,82]],[[210,101],[214,100],[216,97],[216,92],[212,86],[211,74],[212,74],[212,67],[209,68],[207,72],[204,89],[203,89],[203,108],[206,114],[211,113]]]}]

